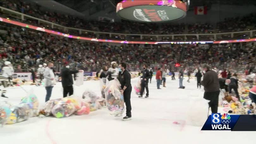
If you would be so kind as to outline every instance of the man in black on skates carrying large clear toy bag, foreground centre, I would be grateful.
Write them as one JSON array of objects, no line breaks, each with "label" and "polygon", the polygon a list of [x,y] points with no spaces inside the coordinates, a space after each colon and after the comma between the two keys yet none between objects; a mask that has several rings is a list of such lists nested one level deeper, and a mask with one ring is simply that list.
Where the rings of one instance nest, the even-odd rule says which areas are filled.
[{"label": "man in black on skates carrying large clear toy bag, foreground centre", "polygon": [[121,63],[119,68],[122,71],[118,76],[122,88],[120,92],[124,95],[124,101],[126,105],[126,116],[123,119],[131,120],[131,74],[128,72],[128,70],[126,70],[125,63]]}]

